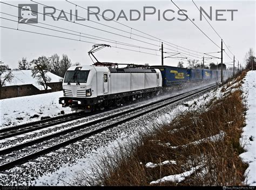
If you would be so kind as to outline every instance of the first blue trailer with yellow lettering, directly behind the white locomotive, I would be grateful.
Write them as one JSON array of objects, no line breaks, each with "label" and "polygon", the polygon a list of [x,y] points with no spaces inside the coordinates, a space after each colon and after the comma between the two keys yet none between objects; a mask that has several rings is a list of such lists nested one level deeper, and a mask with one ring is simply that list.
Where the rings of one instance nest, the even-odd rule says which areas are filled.
[{"label": "first blue trailer with yellow lettering, directly behind the white locomotive", "polygon": [[163,78],[163,86],[180,85],[187,81],[187,69],[174,66],[151,66],[159,69]]}]

